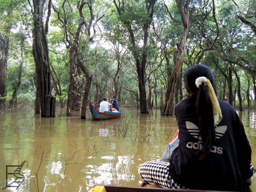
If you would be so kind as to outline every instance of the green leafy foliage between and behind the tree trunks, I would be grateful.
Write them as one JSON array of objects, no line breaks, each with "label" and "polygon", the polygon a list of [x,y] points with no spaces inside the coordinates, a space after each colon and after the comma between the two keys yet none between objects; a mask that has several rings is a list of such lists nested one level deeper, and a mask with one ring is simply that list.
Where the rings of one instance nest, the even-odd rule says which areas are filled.
[{"label": "green leafy foliage between and behind the tree trunks", "polygon": [[[90,89],[90,98],[93,100],[96,96],[96,85],[100,85],[98,89],[98,96],[106,96],[109,93],[109,71],[112,65],[112,77],[117,71],[117,53],[115,48],[119,48],[119,56],[121,62],[121,69],[119,71],[118,81],[129,88],[132,92],[126,91],[123,87],[118,85],[121,89],[119,104],[134,104],[136,103],[136,96],[134,93],[138,92],[138,81],[136,79],[137,69],[135,67],[134,51],[137,51],[139,58],[142,55],[147,55],[146,75],[150,71],[152,86],[152,99],[157,94],[158,104],[160,96],[165,96],[166,87],[170,74],[168,70],[173,72],[175,66],[175,53],[177,52],[177,44],[180,42],[183,25],[181,24],[181,16],[175,1],[166,3],[168,11],[164,6],[163,1],[156,1],[154,7],[154,17],[151,20],[147,14],[147,1],[123,1],[123,11],[121,15],[117,12],[112,1],[92,1],[94,13],[99,11],[100,15],[104,17],[100,19],[97,25],[94,26],[96,31],[93,40],[89,43],[85,26],[82,26],[79,49],[82,59],[90,70],[92,75],[92,87]],[[62,0],[53,1],[55,9],[59,12],[59,17],[67,22],[67,28],[63,27],[63,23],[59,20],[58,14],[51,9],[51,16],[49,22],[49,32],[47,34],[49,57],[51,64],[60,81],[62,96],[56,96],[66,100],[69,86],[70,69],[69,69],[69,45],[66,42],[65,30],[69,30],[68,39],[73,42],[74,35],[79,22],[79,7],[81,1],[69,0],[63,4]],[[118,3],[118,2],[117,2]],[[183,1],[185,3],[185,1]],[[248,9],[247,1],[237,1],[241,10]],[[23,45],[24,64],[22,69],[22,84],[18,90],[18,102],[33,102],[35,98],[34,86],[34,59],[32,56],[32,37],[31,32],[33,28],[31,7],[28,1],[7,1],[0,0],[0,33],[1,35],[8,35],[10,37],[9,45],[9,59],[7,66],[7,96],[6,100],[11,99],[14,87],[18,82],[19,66],[21,60],[20,49],[22,47],[22,38],[25,40]],[[63,11],[63,8],[65,13]],[[256,5],[256,4],[255,4]],[[255,5],[253,9],[255,8]],[[47,7],[47,6],[46,6]],[[228,75],[229,65],[225,59],[239,62],[244,67],[256,68],[256,54],[255,54],[255,34],[251,27],[245,25],[237,18],[238,7],[233,1],[223,0],[216,1],[216,19],[219,27],[219,37],[215,42],[212,50],[206,51],[200,63],[208,65],[213,71],[216,78],[217,96],[222,98],[225,77],[221,71]],[[255,9],[254,9],[255,10]],[[86,22],[90,19],[90,11],[88,6],[84,6],[82,10]],[[199,54],[203,48],[208,48],[212,40],[216,36],[216,24],[212,15],[212,1],[193,0],[189,5],[189,33],[187,37],[187,50],[184,57],[182,72],[197,61]],[[46,18],[47,9],[44,11]],[[207,15],[208,14],[208,15]],[[255,14],[248,13],[249,19],[254,25],[256,24]],[[94,22],[93,21],[93,22]],[[154,24],[154,27],[153,27]],[[144,25],[149,25],[149,37],[147,46],[143,46]],[[43,26],[44,27],[44,26]],[[92,27],[93,28],[93,27]],[[135,38],[135,45],[131,43],[132,30]],[[90,31],[93,34],[93,29]],[[205,34],[205,36],[203,36]],[[208,38],[208,40],[207,40]],[[100,40],[98,42],[98,40]],[[97,44],[97,46],[96,46]],[[107,46],[106,46],[107,45]],[[112,48],[111,48],[112,47]],[[233,50],[231,49],[233,48]],[[176,52],[175,52],[176,51]],[[234,52],[237,53],[239,58]],[[75,58],[76,59],[76,58]],[[167,65],[167,61],[169,64]],[[240,77],[241,95],[246,100],[246,90],[248,87],[248,79],[251,83],[249,87],[250,97],[254,98],[252,75],[241,68],[239,65],[234,65]],[[84,85],[85,77],[78,67],[79,80],[81,85]],[[247,79],[248,76],[248,79]],[[113,79],[112,79],[113,85]],[[237,79],[232,74],[232,88],[233,91],[237,86]],[[113,88],[112,88],[113,89]],[[119,91],[118,90],[118,91]],[[116,91],[116,90],[115,90]],[[146,92],[148,94],[148,82],[146,82]],[[183,97],[185,96],[185,89],[182,87]],[[226,94],[228,86],[226,86]],[[52,92],[54,94],[54,91]],[[246,101],[245,101],[246,103]]]}]

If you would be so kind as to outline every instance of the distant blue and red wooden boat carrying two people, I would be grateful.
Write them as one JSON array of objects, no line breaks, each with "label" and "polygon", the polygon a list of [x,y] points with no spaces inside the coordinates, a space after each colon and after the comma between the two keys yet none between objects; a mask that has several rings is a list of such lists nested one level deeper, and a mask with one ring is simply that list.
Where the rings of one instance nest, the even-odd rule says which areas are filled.
[{"label": "distant blue and red wooden boat carrying two people", "polygon": [[104,113],[99,112],[91,102],[89,103],[89,110],[93,120],[114,119],[120,117],[122,114],[122,111],[120,110],[118,111],[118,113],[107,111]]}]

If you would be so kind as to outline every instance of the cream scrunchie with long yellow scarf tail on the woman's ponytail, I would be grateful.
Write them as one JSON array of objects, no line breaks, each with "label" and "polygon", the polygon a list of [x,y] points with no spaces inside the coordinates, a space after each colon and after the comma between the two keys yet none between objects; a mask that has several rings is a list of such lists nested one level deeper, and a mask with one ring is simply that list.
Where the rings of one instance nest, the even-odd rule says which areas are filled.
[{"label": "cream scrunchie with long yellow scarf tail on the woman's ponytail", "polygon": [[[216,126],[222,120],[222,113],[221,113],[221,110],[220,110],[220,104],[218,102],[218,99],[216,97],[216,94],[214,92],[214,89],[212,87],[212,84],[211,84],[210,80],[207,79],[206,77],[198,77],[195,80],[195,84],[196,84],[197,88],[199,88],[199,86],[202,85],[202,83],[205,83],[208,96],[209,96],[210,101],[212,103],[212,113],[213,113],[213,119],[214,119],[214,126]],[[202,107],[204,107],[204,106],[202,106]]]}]

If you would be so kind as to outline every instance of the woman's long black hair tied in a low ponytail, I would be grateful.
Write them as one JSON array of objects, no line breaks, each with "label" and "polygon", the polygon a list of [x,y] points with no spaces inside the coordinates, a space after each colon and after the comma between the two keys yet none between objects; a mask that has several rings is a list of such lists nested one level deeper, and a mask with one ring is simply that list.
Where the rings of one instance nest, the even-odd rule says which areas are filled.
[{"label": "woman's long black hair tied in a low ponytail", "polygon": [[[192,97],[196,97],[195,110],[197,114],[197,125],[199,134],[202,138],[203,152],[200,159],[204,159],[210,153],[211,146],[215,140],[214,119],[212,113],[212,103],[207,93],[204,83],[199,88],[195,84],[198,77],[206,77],[210,80],[213,88],[214,76],[209,67],[206,65],[193,65],[187,68],[184,72],[184,83]],[[199,137],[198,137],[199,138]]]}]

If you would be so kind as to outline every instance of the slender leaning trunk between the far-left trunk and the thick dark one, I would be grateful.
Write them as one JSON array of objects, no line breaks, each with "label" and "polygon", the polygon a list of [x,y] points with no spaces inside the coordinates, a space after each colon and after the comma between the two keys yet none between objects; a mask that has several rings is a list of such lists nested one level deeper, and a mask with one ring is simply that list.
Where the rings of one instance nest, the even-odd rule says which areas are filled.
[{"label": "slender leaning trunk between the far-left trunk and the thick dark one", "polygon": [[24,38],[21,39],[20,42],[20,55],[21,55],[21,61],[20,61],[20,69],[19,69],[19,78],[18,78],[18,82],[16,87],[13,89],[13,96],[12,99],[10,101],[10,106],[14,106],[17,107],[17,92],[20,88],[21,85],[21,75],[22,75],[22,67],[23,67],[23,62],[24,62],[24,58],[23,58],[23,47],[24,47]]}]

